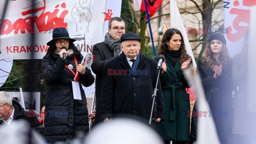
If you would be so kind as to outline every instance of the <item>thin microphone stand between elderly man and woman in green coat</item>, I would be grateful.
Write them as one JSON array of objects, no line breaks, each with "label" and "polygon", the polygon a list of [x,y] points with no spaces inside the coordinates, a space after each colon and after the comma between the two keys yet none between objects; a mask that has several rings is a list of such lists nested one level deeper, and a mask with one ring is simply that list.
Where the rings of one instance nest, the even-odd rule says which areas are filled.
[{"label": "thin microphone stand between elderly man and woman in green coat", "polygon": [[161,67],[157,67],[157,69],[158,69],[158,75],[157,75],[157,80],[156,80],[156,87],[155,87],[154,93],[152,95],[153,103],[152,103],[151,114],[150,114],[150,118],[149,118],[149,122],[148,122],[148,124],[151,125],[152,118],[153,118],[152,115],[153,115],[153,111],[154,111],[154,128],[155,129],[156,129],[156,111],[157,111],[157,101],[156,101],[157,94],[156,94],[156,92],[158,91],[157,85],[158,85],[159,75],[161,72]]}]

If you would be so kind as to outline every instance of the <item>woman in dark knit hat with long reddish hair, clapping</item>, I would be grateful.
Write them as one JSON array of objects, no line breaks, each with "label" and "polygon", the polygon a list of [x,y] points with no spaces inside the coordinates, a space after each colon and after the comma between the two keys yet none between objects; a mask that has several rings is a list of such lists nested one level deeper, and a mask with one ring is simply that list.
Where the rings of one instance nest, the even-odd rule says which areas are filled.
[{"label": "woman in dark knit hat with long reddish hair, clapping", "polygon": [[[197,70],[211,108],[207,115],[213,117],[221,143],[228,143],[233,124],[232,91],[235,87],[232,82],[232,63],[225,37],[219,33],[210,35],[203,57],[197,62]],[[196,111],[195,107],[193,111]],[[192,121],[191,133],[195,129]]]}]

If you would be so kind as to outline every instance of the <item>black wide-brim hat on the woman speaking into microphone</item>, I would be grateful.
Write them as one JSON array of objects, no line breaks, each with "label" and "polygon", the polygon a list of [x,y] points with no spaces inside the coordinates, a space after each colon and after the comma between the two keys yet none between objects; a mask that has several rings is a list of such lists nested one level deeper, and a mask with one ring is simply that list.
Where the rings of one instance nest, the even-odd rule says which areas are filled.
[{"label": "black wide-brim hat on the woman speaking into microphone", "polygon": [[76,39],[70,38],[68,30],[66,28],[55,28],[52,33],[52,40],[47,43],[47,45],[52,45],[55,43],[55,39],[69,39],[70,42],[75,42]]}]

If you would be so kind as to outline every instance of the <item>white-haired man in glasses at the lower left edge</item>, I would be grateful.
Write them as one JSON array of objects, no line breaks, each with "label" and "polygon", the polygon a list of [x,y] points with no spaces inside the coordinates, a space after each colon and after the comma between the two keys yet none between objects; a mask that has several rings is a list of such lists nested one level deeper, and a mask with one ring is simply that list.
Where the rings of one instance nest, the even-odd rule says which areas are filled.
[{"label": "white-haired man in glasses at the lower left edge", "polygon": [[28,112],[25,111],[18,101],[12,100],[9,93],[0,92],[0,125],[10,125],[12,121],[17,119],[26,119],[31,127],[37,132],[44,134],[43,127],[40,125],[37,117],[29,116]]}]

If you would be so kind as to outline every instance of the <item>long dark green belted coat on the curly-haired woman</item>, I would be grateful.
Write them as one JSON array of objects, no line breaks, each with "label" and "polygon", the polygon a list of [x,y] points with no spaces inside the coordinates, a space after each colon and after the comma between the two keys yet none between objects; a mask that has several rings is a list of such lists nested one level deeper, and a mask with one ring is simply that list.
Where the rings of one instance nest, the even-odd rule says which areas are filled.
[{"label": "long dark green belted coat on the curly-haired woman", "polygon": [[[165,121],[157,123],[156,130],[164,140],[188,141],[190,101],[189,94],[185,90],[188,85],[181,71],[180,57],[174,68],[169,59],[167,57],[165,59],[167,71],[160,76]],[[179,85],[174,76],[182,83],[182,86]]]}]

